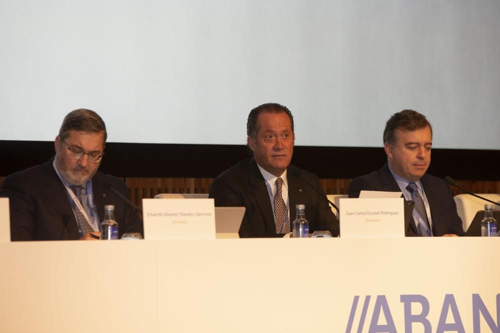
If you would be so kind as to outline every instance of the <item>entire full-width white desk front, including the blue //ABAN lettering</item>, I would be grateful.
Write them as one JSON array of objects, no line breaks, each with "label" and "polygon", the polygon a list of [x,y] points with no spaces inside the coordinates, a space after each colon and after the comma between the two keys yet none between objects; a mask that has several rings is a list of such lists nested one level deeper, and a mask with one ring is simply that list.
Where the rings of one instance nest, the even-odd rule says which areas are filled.
[{"label": "entire full-width white desk front, including the blue //ABAN lettering", "polygon": [[2,243],[0,323],[2,332],[496,332],[498,250],[500,238],[479,237]]}]

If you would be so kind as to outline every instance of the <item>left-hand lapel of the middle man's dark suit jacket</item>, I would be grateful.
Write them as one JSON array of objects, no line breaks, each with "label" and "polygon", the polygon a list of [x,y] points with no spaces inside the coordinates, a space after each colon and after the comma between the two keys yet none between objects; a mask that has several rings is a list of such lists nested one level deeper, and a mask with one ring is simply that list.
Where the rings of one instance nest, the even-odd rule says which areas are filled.
[{"label": "left-hand lapel of the middle man's dark suit jacket", "polygon": [[[264,228],[265,230],[274,230],[274,215],[272,213],[271,201],[269,198],[269,192],[267,191],[267,186],[265,185],[264,177],[260,173],[257,167],[257,162],[252,158],[248,162],[248,183],[250,195],[256,201],[262,215],[264,216]],[[272,226],[272,228],[271,228]]]}]

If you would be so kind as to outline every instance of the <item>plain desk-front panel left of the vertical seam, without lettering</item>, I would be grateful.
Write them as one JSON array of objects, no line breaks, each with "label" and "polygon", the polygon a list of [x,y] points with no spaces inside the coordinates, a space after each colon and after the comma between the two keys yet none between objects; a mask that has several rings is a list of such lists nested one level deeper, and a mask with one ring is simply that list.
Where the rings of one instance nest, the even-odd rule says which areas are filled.
[{"label": "plain desk-front panel left of the vertical seam, without lettering", "polygon": [[0,243],[0,332],[156,332],[156,244]]}]

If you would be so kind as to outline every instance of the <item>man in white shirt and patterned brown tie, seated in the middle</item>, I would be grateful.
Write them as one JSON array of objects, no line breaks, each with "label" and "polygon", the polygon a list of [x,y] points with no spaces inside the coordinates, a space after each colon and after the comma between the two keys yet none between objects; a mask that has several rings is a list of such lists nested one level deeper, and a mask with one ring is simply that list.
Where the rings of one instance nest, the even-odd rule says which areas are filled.
[{"label": "man in white shirt and patterned brown tie, seated in the middle", "polygon": [[[280,237],[291,232],[295,205],[305,205],[309,232],[328,230],[338,235],[318,178],[290,165],[293,116],[282,105],[267,103],[248,115],[247,144],[253,157],[219,175],[210,187],[215,206],[246,208],[240,237]],[[314,189],[315,190],[314,190]]]}]

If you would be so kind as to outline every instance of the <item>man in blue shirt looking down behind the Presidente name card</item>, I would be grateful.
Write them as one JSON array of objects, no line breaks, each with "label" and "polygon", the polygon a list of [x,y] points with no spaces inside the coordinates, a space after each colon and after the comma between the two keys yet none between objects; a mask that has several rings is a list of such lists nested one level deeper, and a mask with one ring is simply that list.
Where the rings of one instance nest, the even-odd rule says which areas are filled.
[{"label": "man in blue shirt looking down behind the Presidente name card", "polygon": [[430,165],[432,127],[424,115],[394,113],[383,131],[387,163],[349,184],[349,197],[361,190],[402,192],[415,203],[407,236],[463,236],[451,190],[444,180],[426,173]]}]

